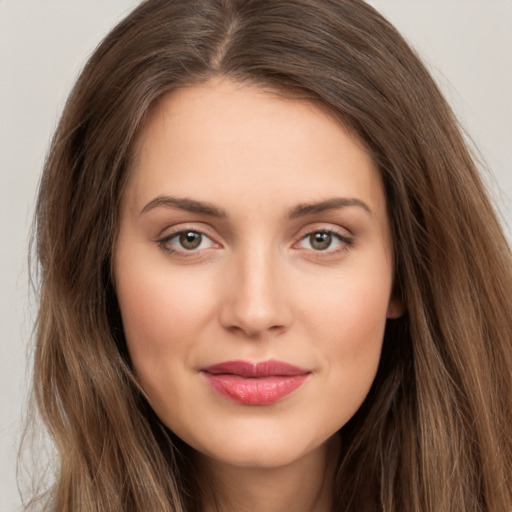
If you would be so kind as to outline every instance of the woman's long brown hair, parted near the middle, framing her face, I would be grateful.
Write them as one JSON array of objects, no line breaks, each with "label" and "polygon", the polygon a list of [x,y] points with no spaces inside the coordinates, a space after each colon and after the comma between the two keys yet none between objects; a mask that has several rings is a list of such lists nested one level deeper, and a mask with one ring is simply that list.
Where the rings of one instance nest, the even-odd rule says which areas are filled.
[{"label": "woman's long brown hair, parted near the middle, framing her face", "polygon": [[133,375],[111,255],[148,109],[218,75],[322,102],[385,184],[407,314],[389,321],[370,394],[341,429],[334,509],[510,510],[510,249],[450,108],[361,0],[147,0],[90,58],[35,224],[34,390],[58,450],[55,510],[200,509],[188,447]]}]

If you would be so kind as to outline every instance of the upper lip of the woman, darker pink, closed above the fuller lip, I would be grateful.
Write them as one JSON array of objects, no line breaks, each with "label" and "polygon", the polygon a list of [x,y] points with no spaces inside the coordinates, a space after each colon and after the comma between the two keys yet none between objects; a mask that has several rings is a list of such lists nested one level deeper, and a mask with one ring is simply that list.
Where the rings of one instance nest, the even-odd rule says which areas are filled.
[{"label": "upper lip of the woman, darker pink, closed above the fuller lip", "polygon": [[225,361],[201,368],[201,371],[213,375],[238,375],[245,378],[287,377],[311,373],[310,370],[274,359],[258,363],[250,363],[248,361]]}]

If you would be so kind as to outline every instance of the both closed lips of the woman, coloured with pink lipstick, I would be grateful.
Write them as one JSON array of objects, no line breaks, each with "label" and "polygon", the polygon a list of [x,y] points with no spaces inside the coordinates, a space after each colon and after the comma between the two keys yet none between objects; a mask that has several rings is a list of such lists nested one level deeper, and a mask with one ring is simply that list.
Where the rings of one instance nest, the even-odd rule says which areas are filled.
[{"label": "both closed lips of the woman, coloured with pink lipstick", "polygon": [[281,361],[226,361],[201,372],[222,396],[245,405],[269,405],[295,391],[311,371]]}]

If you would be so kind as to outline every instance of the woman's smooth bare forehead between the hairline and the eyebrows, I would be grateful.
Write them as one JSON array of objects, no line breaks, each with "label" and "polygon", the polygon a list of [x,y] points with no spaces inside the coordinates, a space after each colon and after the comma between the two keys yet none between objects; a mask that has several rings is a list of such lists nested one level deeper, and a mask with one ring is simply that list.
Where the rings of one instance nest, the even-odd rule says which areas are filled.
[{"label": "woman's smooth bare forehead between the hairline and the eyebrows", "polygon": [[161,98],[135,155],[127,195],[140,207],[161,194],[226,206],[230,195],[283,207],[332,195],[384,201],[364,146],[325,107],[226,79]]}]

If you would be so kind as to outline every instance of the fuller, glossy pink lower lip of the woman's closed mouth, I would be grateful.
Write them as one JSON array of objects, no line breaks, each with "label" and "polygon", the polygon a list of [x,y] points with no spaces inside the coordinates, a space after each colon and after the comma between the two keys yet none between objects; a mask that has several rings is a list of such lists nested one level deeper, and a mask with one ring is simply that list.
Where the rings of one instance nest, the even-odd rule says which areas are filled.
[{"label": "fuller, glossy pink lower lip of the woman's closed mouth", "polygon": [[222,396],[245,405],[269,405],[295,391],[309,374],[270,377],[240,377],[231,374],[204,375]]}]

